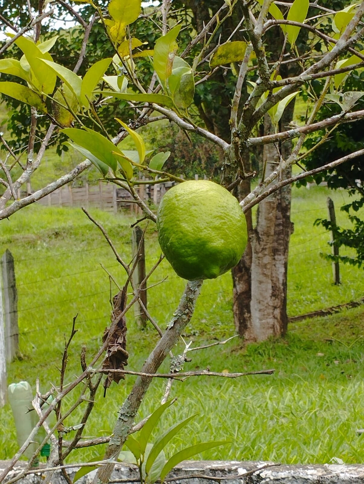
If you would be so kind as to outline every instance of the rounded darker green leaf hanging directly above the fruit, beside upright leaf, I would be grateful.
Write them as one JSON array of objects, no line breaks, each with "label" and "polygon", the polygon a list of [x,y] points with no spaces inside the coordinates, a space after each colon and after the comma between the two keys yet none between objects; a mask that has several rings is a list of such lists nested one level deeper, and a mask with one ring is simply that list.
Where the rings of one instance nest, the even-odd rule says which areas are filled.
[{"label": "rounded darker green leaf hanging directly above the fruit, beside upright leaf", "polygon": [[186,109],[193,101],[195,94],[193,71],[181,57],[174,58],[172,74],[168,78],[168,90],[177,107]]}]

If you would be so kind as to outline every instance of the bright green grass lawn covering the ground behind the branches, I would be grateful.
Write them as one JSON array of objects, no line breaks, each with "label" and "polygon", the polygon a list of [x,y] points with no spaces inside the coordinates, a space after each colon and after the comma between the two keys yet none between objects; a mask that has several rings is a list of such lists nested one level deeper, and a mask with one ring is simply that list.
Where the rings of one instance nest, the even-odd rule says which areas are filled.
[{"label": "bright green grass lawn covering the ground behind the branches", "polygon": [[[326,216],[325,187],[293,189],[288,272],[288,314],[302,314],[363,297],[363,269],[341,265],[341,286],[332,285],[331,265],[319,255],[329,251],[329,236],[322,227],[313,227],[316,218]],[[330,193],[337,218],[345,192]],[[131,257],[130,216],[114,216],[92,210],[115,242],[120,254]],[[19,295],[19,331],[22,359],[8,368],[8,382],[22,379],[33,386],[39,376],[43,391],[57,384],[64,333],[78,313],[77,328],[69,355],[67,381],[79,373],[81,345],[89,359],[101,343],[108,325],[110,288],[106,272],[122,284],[124,274],[101,233],[79,209],[28,207],[0,223],[0,254],[9,248],[15,258]],[[147,270],[159,257],[155,227],[147,228]],[[348,252],[349,254],[349,252]],[[167,276],[166,282],[161,282]],[[176,276],[167,261],[152,275],[148,309],[163,328],[171,318],[185,282]],[[195,315],[185,338],[195,346],[234,334],[231,313],[231,276],[206,281]],[[112,287],[112,294],[116,287]],[[131,370],[139,370],[157,340],[151,328],[137,330],[134,315],[127,315],[128,351]],[[223,451],[203,454],[209,459],[276,460],[285,463],[325,463],[334,455],[346,463],[363,462],[363,362],[364,308],[340,314],[290,323],[285,339],[243,348],[234,339],[225,346],[194,352],[186,370],[209,367],[212,371],[250,371],[275,368],[272,376],[251,376],[240,380],[212,377],[174,382],[171,396],[178,401],[165,413],[160,429],[192,413],[199,415],[170,444],[170,451],[200,440],[228,439]],[[175,354],[182,349],[175,349]],[[167,363],[163,370],[167,371]],[[103,398],[102,391],[85,429],[86,436],[111,433],[118,408],[133,384],[127,377],[113,384]],[[163,381],[154,381],[140,410],[143,418],[164,393]],[[75,391],[77,392],[77,390]],[[65,408],[75,396],[69,395]],[[82,406],[66,422],[79,423]],[[0,459],[16,449],[15,426],[10,407],[0,409],[2,428]],[[69,461],[79,462],[102,454],[102,446],[74,451]]]}]

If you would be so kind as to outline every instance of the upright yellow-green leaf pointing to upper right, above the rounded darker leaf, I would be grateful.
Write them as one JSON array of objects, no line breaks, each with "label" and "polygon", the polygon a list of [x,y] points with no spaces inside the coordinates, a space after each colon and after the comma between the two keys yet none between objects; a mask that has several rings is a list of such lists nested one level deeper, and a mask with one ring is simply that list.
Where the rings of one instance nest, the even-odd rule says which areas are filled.
[{"label": "upright yellow-green leaf pointing to upper right, above the rounded darker leaf", "polygon": [[153,67],[164,88],[168,77],[172,74],[173,60],[178,48],[176,39],[180,30],[181,25],[176,25],[166,35],[160,37],[154,46]]}]

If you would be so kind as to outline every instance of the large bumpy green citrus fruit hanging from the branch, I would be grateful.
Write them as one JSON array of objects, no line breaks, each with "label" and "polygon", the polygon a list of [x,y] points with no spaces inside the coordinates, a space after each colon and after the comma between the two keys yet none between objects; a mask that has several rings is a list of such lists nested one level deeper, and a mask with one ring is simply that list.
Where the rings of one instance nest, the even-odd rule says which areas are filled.
[{"label": "large bumpy green citrus fruit hanging from the branch", "polygon": [[162,198],[158,240],[184,279],[213,279],[236,266],[247,232],[238,200],[212,181],[184,181]]}]

